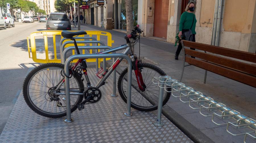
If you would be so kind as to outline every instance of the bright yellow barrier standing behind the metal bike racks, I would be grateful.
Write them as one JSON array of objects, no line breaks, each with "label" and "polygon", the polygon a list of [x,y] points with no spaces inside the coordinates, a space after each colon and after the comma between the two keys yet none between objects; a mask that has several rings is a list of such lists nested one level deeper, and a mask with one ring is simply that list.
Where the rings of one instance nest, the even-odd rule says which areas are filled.
[{"label": "bright yellow barrier standing behind the metal bike racks", "polygon": [[[97,36],[97,40],[100,41],[100,36],[107,36],[107,45],[112,47],[112,43],[114,43],[114,40],[112,40],[112,35],[109,32],[105,32],[105,31],[86,31],[87,35],[89,35],[90,37],[92,36]],[[34,62],[38,62],[38,63],[49,63],[49,62],[57,62],[57,63],[61,63],[61,59],[57,58],[57,50],[56,50],[56,44],[59,45],[59,43],[56,43],[56,35],[60,35],[61,36],[61,31],[38,31],[38,32],[33,32],[30,34],[30,37],[27,37],[27,42],[28,42],[28,55],[29,58],[32,58]],[[37,57],[37,51],[36,51],[36,37],[37,36],[44,36],[44,46],[45,46],[45,59],[40,59]],[[52,36],[53,37],[53,53],[54,53],[54,59],[49,59],[49,52],[48,52],[48,36]],[[79,35],[79,37],[84,37],[84,35]],[[61,39],[63,37],[61,36]],[[30,44],[29,44],[29,40],[30,40]],[[77,39],[77,41],[79,40],[83,40],[83,39]],[[64,40],[64,42],[66,41],[70,41],[70,40]],[[31,45],[31,47],[30,47]],[[84,46],[85,44],[77,44],[78,46]],[[98,44],[100,45],[100,44]],[[67,44],[65,47],[69,47],[69,46],[74,46],[74,44]],[[92,44],[90,44],[90,46],[92,46]],[[30,56],[30,51],[32,53],[32,56]],[[100,49],[98,49],[98,52],[100,52]],[[75,51],[73,50],[73,55],[75,54]],[[82,51],[82,54],[84,54],[85,51]],[[92,50],[90,50],[90,54],[92,54]],[[106,60],[110,60],[111,58],[106,58]],[[77,60],[74,60],[73,62],[76,62]],[[99,58],[98,59],[99,62],[103,61],[103,58]],[[95,58],[91,58],[91,59],[86,59],[86,62],[96,62]]]}]

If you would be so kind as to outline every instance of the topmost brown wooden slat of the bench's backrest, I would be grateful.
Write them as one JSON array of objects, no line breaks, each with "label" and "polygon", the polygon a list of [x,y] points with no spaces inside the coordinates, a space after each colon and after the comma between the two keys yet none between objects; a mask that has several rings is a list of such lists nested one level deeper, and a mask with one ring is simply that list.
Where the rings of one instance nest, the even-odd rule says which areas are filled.
[{"label": "topmost brown wooden slat of the bench's backrest", "polygon": [[197,42],[191,42],[186,40],[182,40],[182,41],[184,43],[184,46],[186,47],[195,48],[195,49],[208,51],[208,52],[219,54],[219,55],[224,55],[227,57],[237,58],[240,60],[256,63],[256,54],[253,54],[253,53],[224,48],[224,47],[217,47],[217,46],[207,45],[207,44],[202,44]]}]

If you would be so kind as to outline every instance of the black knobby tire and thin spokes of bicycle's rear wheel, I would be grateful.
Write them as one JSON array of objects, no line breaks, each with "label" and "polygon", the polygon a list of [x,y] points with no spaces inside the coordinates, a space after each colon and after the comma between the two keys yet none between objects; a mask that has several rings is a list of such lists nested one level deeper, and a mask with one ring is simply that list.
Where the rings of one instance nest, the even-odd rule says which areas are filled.
[{"label": "black knobby tire and thin spokes of bicycle's rear wheel", "polygon": [[[30,71],[30,73],[26,76],[26,78],[25,78],[25,80],[24,80],[24,83],[23,83],[23,97],[24,97],[24,99],[25,99],[25,101],[26,101],[26,103],[27,103],[27,105],[30,107],[30,109],[32,109],[34,112],[36,112],[37,114],[39,114],[39,115],[42,115],[42,116],[45,116],[45,117],[49,117],[49,118],[60,118],[60,117],[63,117],[63,116],[66,116],[66,110],[65,110],[65,108],[66,107],[62,107],[63,108],[63,112],[59,112],[59,113],[57,113],[57,101],[56,101],[56,104],[55,104],[55,101],[53,102],[53,101],[51,101],[51,102],[53,102],[53,105],[52,105],[52,103],[51,103],[51,106],[52,106],[52,108],[53,108],[53,106],[55,105],[56,106],[56,113],[50,113],[50,112],[47,112],[48,111],[48,109],[47,109],[47,111],[44,111],[44,107],[43,107],[43,109],[39,109],[39,107],[37,107],[36,105],[35,105],[35,103],[33,103],[33,101],[32,101],[32,99],[31,99],[31,97],[30,97],[30,93],[32,93],[32,92],[30,92],[29,90],[31,89],[32,91],[33,90],[37,90],[37,89],[32,89],[32,88],[30,88],[30,83],[31,83],[31,81],[33,81],[33,83],[35,83],[35,84],[38,84],[38,83],[43,83],[43,84],[41,84],[41,85],[38,85],[38,86],[34,86],[34,88],[38,88],[39,86],[42,86],[42,87],[45,87],[46,89],[47,88],[49,88],[48,87],[48,83],[49,83],[49,81],[50,81],[50,84],[55,84],[55,79],[54,79],[54,83],[52,82],[51,83],[51,80],[49,79],[49,81],[47,80],[47,81],[44,81],[44,79],[41,77],[41,75],[40,75],[40,77],[42,78],[40,78],[39,76],[38,77],[36,77],[36,75],[37,75],[37,73],[40,73],[41,71],[43,71],[44,69],[46,69],[46,70],[50,70],[50,68],[52,68],[52,70],[53,70],[53,68],[58,68],[59,70],[61,70],[61,69],[64,69],[64,65],[63,64],[59,64],[59,63],[47,63],[47,64],[42,64],[42,65],[40,65],[40,66],[38,66],[38,67],[36,67],[36,68],[34,68],[32,71]],[[49,75],[51,75],[50,74],[50,72],[49,72],[49,70],[48,70],[48,73],[49,73]],[[56,75],[55,75],[55,77],[57,78],[57,71],[58,70],[56,70]],[[63,70],[64,71],[64,70]],[[55,72],[55,71],[54,71]],[[53,71],[52,71],[52,73],[53,73]],[[58,78],[60,79],[62,76],[61,75],[59,75],[58,74]],[[38,78],[38,82],[36,83],[36,82],[34,82],[35,80],[33,80],[33,78],[34,77],[36,77],[36,78]],[[35,79],[36,79],[35,78]],[[40,81],[39,81],[39,79],[40,79]],[[75,82],[77,82],[77,85],[79,86],[79,93],[82,93],[83,91],[84,91],[84,84],[83,84],[83,82],[82,82],[82,80],[81,80],[81,78],[80,77],[77,77],[76,75],[72,75],[72,77],[71,77],[71,81],[73,81],[73,80],[75,80]],[[44,81],[44,82],[42,82],[42,81]],[[53,81],[53,78],[52,78],[52,81]],[[59,80],[60,81],[60,80]],[[70,85],[71,85],[71,81],[70,81]],[[75,83],[74,82],[74,83]],[[32,85],[35,85],[35,84],[32,84]],[[47,87],[46,87],[47,86]],[[54,86],[54,85],[53,85]],[[63,85],[62,85],[63,86]],[[65,88],[65,86],[63,86],[64,88]],[[46,92],[45,91],[42,91],[42,89],[41,90],[38,90],[38,91],[41,91],[42,93],[41,93],[41,95],[40,96],[43,96]],[[49,91],[49,90],[48,90]],[[39,93],[39,92],[37,92],[37,93]],[[36,94],[37,94],[36,93]],[[46,99],[46,103],[45,104],[47,104],[48,103],[48,99],[46,98],[46,96],[48,97],[49,96],[49,93],[48,93],[48,95],[46,94],[45,95],[45,99]],[[59,97],[65,97],[65,95],[64,96],[59,96]],[[39,97],[37,97],[36,96],[36,98],[39,98]],[[41,98],[43,98],[43,97],[41,97]],[[62,101],[61,101],[61,99],[62,99]],[[64,102],[65,103],[65,100],[63,100],[63,98],[61,98],[61,99],[59,99],[61,102]],[[83,99],[83,96],[79,96],[79,97],[77,97],[77,100],[76,101],[73,101],[74,102],[74,106],[71,106],[71,113],[72,112],[74,112],[76,109],[77,109],[77,104],[78,103],[81,103],[82,102],[82,99]],[[71,99],[72,100],[72,99]],[[49,105],[50,105],[50,101],[49,101],[49,104],[48,104],[48,107],[49,107]],[[44,105],[44,106],[46,106],[46,105]],[[55,107],[54,107],[54,109],[55,109]],[[61,108],[59,108],[59,110],[61,111]]]}]

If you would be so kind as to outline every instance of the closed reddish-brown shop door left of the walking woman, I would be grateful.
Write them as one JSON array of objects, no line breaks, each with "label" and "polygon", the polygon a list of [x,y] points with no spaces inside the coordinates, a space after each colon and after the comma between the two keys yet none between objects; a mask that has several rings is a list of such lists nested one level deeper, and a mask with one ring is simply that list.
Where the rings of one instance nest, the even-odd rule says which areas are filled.
[{"label": "closed reddish-brown shop door left of the walking woman", "polygon": [[155,0],[154,36],[167,37],[169,0]]}]

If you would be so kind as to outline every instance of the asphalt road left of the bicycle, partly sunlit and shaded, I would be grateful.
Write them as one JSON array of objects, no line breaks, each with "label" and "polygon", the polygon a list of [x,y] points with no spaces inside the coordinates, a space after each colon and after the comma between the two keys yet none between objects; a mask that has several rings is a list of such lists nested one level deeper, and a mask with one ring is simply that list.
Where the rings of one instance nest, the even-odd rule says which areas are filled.
[{"label": "asphalt road left of the bicycle, partly sunlit and shaded", "polygon": [[[46,23],[18,23],[0,29],[0,134],[7,122],[26,75],[38,64],[28,58],[27,37],[46,29]],[[48,44],[51,44],[48,42]]]}]

